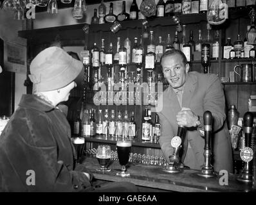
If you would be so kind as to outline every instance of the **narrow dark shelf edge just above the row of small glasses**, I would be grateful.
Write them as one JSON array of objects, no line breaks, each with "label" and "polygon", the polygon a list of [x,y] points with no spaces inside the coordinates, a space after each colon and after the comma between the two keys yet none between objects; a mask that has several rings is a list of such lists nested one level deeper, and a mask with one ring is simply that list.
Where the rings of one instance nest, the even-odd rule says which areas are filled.
[{"label": "narrow dark shelf edge just above the row of small glasses", "polygon": [[[105,136],[95,136],[95,137],[88,137],[85,138],[86,142],[96,142],[96,143],[109,143],[109,144],[116,144],[116,137],[105,137]],[[140,142],[138,139],[133,140],[134,147],[145,147],[145,148],[154,148],[154,149],[161,149],[159,143],[151,143],[151,142]]]}]

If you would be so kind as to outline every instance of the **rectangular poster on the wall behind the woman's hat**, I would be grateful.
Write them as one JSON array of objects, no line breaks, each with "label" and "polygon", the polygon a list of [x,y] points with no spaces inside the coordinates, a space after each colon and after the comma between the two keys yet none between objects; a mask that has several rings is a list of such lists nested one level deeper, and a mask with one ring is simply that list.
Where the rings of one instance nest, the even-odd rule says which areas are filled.
[{"label": "rectangular poster on the wall behind the woman's hat", "polygon": [[5,42],[5,70],[26,74],[26,46]]}]

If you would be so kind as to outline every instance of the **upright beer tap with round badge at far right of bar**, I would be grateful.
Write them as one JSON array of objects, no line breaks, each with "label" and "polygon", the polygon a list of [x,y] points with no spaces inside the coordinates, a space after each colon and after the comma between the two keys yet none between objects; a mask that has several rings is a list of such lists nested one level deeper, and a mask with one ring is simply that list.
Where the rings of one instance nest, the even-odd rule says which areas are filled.
[{"label": "upright beer tap with round badge at far right of bar", "polygon": [[253,160],[253,150],[250,148],[252,127],[253,127],[253,114],[250,111],[247,111],[244,114],[245,147],[240,152],[240,157],[242,161],[245,162],[245,164],[244,164],[244,168],[242,168],[241,174],[239,175],[239,177],[237,177],[237,180],[243,183],[252,182],[251,160]]}]

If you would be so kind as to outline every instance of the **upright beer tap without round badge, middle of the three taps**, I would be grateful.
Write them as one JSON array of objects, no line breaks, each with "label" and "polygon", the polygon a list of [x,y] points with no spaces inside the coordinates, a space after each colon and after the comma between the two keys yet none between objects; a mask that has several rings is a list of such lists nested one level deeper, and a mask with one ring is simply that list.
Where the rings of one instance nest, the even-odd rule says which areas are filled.
[{"label": "upright beer tap without round badge, middle of the three taps", "polygon": [[212,113],[210,111],[205,111],[203,113],[203,121],[204,121],[204,129],[205,129],[205,152],[203,156],[205,157],[205,162],[203,164],[202,170],[198,173],[198,176],[209,178],[214,177],[214,167],[210,164],[211,161],[211,148],[210,148],[210,140],[212,133]]}]

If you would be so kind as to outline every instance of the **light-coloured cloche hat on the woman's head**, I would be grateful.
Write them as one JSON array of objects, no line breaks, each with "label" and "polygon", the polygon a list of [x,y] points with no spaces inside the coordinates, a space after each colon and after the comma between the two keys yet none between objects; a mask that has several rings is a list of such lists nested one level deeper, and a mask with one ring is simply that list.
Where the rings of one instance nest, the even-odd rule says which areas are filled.
[{"label": "light-coloured cloche hat on the woman's head", "polygon": [[30,64],[30,79],[35,90],[50,91],[71,83],[83,64],[60,47],[48,47],[37,54]]}]

